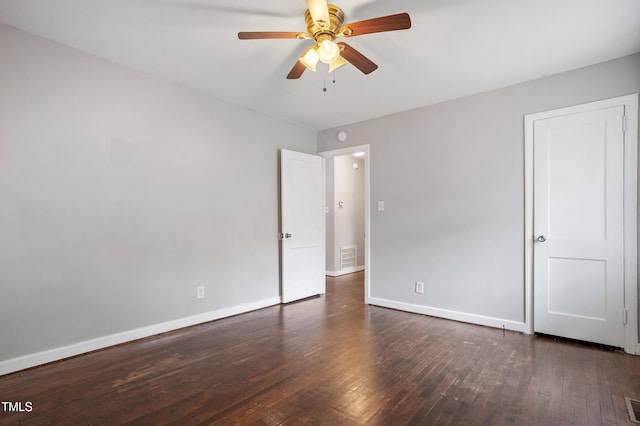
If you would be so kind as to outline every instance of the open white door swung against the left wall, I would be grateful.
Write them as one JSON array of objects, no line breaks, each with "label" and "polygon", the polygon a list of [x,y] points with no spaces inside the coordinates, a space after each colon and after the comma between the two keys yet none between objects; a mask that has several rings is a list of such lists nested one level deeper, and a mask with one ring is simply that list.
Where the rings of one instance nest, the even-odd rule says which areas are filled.
[{"label": "open white door swung against the left wall", "polygon": [[280,153],[282,303],[325,292],[322,157]]}]

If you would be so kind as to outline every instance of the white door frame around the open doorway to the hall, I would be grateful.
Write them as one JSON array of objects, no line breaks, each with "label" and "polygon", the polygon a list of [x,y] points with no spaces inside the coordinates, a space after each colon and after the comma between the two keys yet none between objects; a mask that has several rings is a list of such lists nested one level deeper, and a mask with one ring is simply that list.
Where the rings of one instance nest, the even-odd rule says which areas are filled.
[{"label": "white door frame around the open doorway to the hall", "polygon": [[[371,196],[370,196],[370,177],[371,177],[371,159],[369,144],[356,145],[346,148],[334,149],[330,151],[319,152],[318,155],[322,158],[340,157],[343,155],[355,154],[356,152],[364,152],[364,303],[370,304],[371,299],[371,282],[369,269],[371,268]],[[327,184],[327,177],[325,173],[325,186]],[[326,190],[325,190],[326,193]],[[325,221],[326,223],[326,221]],[[325,227],[326,238],[326,227]],[[326,255],[326,242],[325,242],[325,255]]]}]

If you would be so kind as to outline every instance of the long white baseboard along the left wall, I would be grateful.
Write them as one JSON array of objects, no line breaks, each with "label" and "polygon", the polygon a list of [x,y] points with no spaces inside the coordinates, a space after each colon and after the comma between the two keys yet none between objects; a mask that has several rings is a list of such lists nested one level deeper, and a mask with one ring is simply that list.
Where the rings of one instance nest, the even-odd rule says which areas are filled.
[{"label": "long white baseboard along the left wall", "polygon": [[98,349],[104,349],[109,346],[119,345],[122,343],[130,342],[144,337],[153,336],[160,333],[166,333],[167,331],[173,331],[184,327],[190,327],[192,325],[202,324],[209,321],[229,317],[232,315],[243,314],[256,309],[266,308],[268,306],[278,305],[280,303],[279,297],[272,297],[269,299],[259,300],[256,302],[245,303],[243,305],[232,306],[229,308],[223,308],[216,311],[205,312],[203,314],[193,315],[186,318],[179,318],[172,321],[163,322],[160,324],[154,324],[147,327],[136,328],[133,330],[124,331],[121,333],[111,334],[109,336],[98,337],[84,342],[74,343],[72,345],[63,346],[60,348],[50,349],[43,352],[37,352],[21,356],[19,358],[13,358],[0,362],[0,376],[4,374],[14,373],[16,371],[24,370],[38,365],[47,364],[54,361],[59,361],[64,358],[69,358],[76,355],[81,355],[87,352],[92,352]]}]

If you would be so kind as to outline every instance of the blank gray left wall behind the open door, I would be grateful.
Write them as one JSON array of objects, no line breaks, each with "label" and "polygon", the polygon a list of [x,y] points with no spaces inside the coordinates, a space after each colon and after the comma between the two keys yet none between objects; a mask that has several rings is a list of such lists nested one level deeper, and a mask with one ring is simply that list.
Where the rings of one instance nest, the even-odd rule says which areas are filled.
[{"label": "blank gray left wall behind the open door", "polygon": [[278,296],[315,132],[4,25],[0,58],[0,361]]}]

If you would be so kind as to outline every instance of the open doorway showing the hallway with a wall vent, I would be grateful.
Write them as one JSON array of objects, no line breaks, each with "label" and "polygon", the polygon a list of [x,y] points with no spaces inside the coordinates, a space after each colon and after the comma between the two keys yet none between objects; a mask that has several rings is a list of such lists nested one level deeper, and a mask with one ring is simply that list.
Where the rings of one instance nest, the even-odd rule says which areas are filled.
[{"label": "open doorway showing the hallway with a wall vent", "polygon": [[369,145],[325,151],[326,275],[364,271],[369,300]]}]

